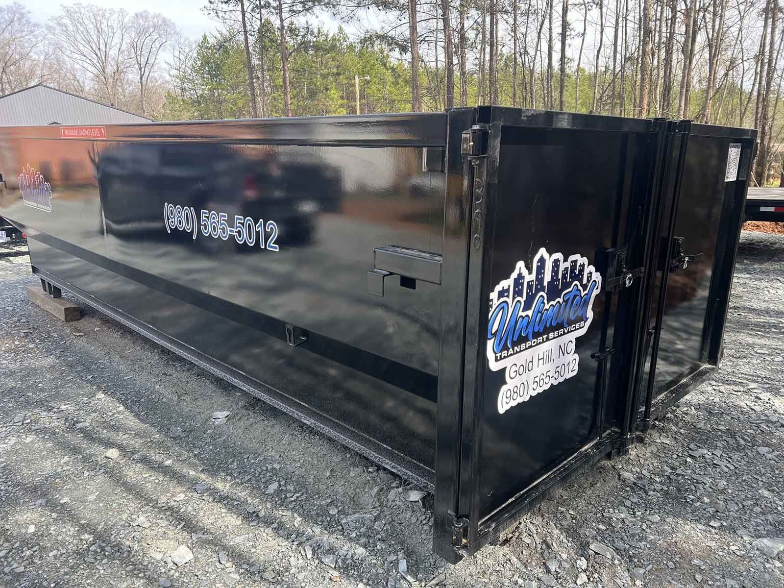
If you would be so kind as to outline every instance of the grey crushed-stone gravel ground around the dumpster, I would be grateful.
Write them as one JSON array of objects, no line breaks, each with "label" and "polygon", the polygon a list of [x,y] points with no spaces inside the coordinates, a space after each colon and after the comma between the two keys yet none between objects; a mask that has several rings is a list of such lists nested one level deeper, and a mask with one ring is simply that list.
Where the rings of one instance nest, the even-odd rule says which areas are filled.
[{"label": "grey crushed-stone gravel ground around the dumpster", "polygon": [[630,456],[449,566],[432,497],[0,250],[0,586],[784,586],[784,235],[742,235],[724,364]]}]

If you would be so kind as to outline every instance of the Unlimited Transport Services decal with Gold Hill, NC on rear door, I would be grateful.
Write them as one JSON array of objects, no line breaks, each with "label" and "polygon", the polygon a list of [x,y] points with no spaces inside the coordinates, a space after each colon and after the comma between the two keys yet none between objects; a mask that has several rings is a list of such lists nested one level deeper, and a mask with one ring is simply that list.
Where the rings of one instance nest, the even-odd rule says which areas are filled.
[{"label": "Unlimited Transport Services decal with Gold Hill, NC on rear door", "polygon": [[490,369],[506,369],[498,412],[575,376],[575,340],[593,321],[601,275],[586,257],[539,249],[529,272],[517,262],[490,295],[487,356]]}]

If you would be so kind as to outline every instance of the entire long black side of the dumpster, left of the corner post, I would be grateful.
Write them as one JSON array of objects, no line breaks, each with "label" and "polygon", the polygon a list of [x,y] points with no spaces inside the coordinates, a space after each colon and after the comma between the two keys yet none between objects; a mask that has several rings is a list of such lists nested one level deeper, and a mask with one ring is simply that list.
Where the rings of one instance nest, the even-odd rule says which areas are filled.
[{"label": "entire long black side of the dumpster, left of the corner post", "polygon": [[49,168],[0,212],[45,277],[432,488],[440,278],[368,271],[385,245],[440,266],[445,122],[2,129],[5,177]]}]

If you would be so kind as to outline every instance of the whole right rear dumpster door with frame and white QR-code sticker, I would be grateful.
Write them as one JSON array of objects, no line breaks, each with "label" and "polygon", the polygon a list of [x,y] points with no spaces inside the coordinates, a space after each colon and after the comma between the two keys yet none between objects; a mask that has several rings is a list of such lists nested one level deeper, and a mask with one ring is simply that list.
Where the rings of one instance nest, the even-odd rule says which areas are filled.
[{"label": "whole right rear dumpster door with frame and white QR-code sticker", "polygon": [[666,194],[643,428],[651,401],[672,401],[719,361],[753,136],[750,129],[691,125],[682,171]]}]

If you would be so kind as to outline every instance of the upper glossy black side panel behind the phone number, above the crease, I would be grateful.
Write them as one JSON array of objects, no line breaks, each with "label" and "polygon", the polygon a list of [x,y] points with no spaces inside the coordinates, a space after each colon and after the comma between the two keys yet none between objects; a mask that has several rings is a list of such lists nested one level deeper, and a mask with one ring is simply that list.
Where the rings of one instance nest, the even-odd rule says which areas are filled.
[{"label": "upper glossy black side panel behind the phone number, above the crease", "polygon": [[367,285],[377,247],[441,255],[421,147],[103,143],[98,169],[112,260],[426,372],[434,398],[440,287]]}]

